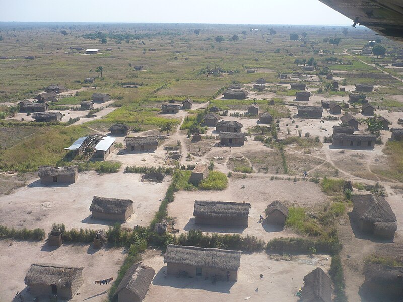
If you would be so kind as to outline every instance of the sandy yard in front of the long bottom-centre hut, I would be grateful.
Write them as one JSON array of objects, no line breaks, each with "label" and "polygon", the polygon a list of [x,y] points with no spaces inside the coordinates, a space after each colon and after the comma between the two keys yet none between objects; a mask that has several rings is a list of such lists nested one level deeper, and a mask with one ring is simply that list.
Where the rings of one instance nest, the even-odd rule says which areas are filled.
[{"label": "sandy yard in front of the long bottom-centre hut", "polygon": [[[328,271],[330,260],[328,255],[317,255],[317,258],[293,256],[292,261],[276,261],[265,253],[242,254],[237,282],[217,281],[200,278],[163,277],[166,266],[160,255],[144,259],[146,265],[156,271],[150,290],[144,302],[151,301],[298,301],[295,294],[303,285],[306,274],[321,267]],[[272,259],[271,259],[272,258]],[[278,260],[280,257],[276,257]],[[263,279],[260,280],[260,274]]]}]

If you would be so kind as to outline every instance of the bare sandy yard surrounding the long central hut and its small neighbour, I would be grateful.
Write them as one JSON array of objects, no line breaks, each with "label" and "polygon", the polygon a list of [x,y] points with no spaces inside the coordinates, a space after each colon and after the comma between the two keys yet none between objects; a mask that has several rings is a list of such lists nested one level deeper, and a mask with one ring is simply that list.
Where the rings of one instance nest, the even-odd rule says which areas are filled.
[{"label": "bare sandy yard surrounding the long central hut and its small neighbour", "polygon": [[[241,188],[244,186],[245,188]],[[249,202],[249,226],[247,228],[231,228],[227,226],[195,225],[193,217],[194,200]],[[264,177],[248,175],[245,179],[229,179],[229,186],[224,191],[179,191],[175,193],[175,201],[168,205],[169,216],[176,218],[175,228],[180,233],[191,229],[199,229],[209,233],[242,233],[257,236],[268,241],[274,237],[298,236],[291,230],[283,230],[276,226],[258,223],[259,215],[271,202],[281,200],[287,206],[318,208],[326,204],[328,198],[319,186],[311,182],[288,180],[268,180]]]}]

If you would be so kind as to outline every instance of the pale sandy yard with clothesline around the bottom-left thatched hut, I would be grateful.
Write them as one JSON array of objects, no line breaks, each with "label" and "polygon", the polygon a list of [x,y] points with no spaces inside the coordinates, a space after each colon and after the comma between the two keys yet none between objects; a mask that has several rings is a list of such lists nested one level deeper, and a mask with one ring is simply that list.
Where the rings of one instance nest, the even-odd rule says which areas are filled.
[{"label": "pale sandy yard with clothesline around the bottom-left thatched hut", "polygon": [[[12,245],[10,245],[12,243]],[[34,296],[27,292],[24,278],[33,263],[83,267],[84,284],[70,301],[105,301],[111,285],[97,285],[97,280],[117,277],[117,271],[125,258],[121,248],[94,250],[92,245],[62,245],[55,249],[45,241],[0,241],[0,300],[12,301],[17,291],[22,292],[25,301]],[[12,273],[11,273],[12,272]],[[6,277],[7,276],[7,277]],[[40,298],[40,301],[48,301]]]}]

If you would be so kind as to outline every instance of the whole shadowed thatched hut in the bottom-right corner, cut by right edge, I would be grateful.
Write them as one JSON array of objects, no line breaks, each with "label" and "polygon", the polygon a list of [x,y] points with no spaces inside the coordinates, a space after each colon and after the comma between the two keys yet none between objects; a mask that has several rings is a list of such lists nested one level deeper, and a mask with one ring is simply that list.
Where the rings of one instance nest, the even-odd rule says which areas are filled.
[{"label": "whole shadowed thatched hut in the bottom-right corner, cut by right edge", "polygon": [[364,264],[362,293],[379,300],[398,301],[403,296],[403,267]]}]

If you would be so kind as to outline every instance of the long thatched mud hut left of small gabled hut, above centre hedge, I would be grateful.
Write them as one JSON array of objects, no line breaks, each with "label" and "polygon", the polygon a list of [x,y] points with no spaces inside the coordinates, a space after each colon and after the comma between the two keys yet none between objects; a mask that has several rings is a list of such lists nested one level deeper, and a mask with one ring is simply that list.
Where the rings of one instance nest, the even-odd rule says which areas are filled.
[{"label": "long thatched mud hut left of small gabled hut, above centre hedge", "polygon": [[250,203],[195,200],[196,224],[248,226]]}]

